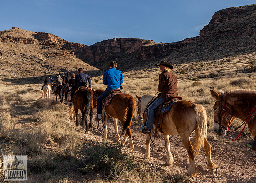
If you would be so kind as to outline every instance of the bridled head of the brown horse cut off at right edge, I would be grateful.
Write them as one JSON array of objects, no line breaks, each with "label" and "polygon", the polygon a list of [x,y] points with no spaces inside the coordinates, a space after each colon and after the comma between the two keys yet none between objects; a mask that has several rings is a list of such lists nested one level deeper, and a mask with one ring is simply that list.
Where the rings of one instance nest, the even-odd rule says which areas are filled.
[{"label": "bridled head of the brown horse cut off at right edge", "polygon": [[214,90],[210,90],[212,97],[216,99],[213,106],[214,109],[214,131],[218,135],[226,135],[229,133],[229,126],[236,119],[232,114],[232,107],[227,100],[229,93],[219,91],[218,93]]}]

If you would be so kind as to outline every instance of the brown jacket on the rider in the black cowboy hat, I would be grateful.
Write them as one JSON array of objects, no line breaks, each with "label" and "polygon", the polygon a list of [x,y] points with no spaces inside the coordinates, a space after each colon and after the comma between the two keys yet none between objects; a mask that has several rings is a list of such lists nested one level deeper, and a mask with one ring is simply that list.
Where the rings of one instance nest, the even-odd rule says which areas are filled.
[{"label": "brown jacket on the rider in the black cowboy hat", "polygon": [[162,92],[161,98],[165,100],[171,96],[178,96],[177,76],[172,72],[163,71],[159,74],[158,91]]}]

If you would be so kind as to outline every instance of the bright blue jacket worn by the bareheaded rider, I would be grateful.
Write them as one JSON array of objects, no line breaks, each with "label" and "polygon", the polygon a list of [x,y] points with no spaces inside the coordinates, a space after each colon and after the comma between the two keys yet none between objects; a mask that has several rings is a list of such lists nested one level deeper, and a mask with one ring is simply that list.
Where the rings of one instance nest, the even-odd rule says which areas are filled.
[{"label": "bright blue jacket worn by the bareheaded rider", "polygon": [[103,84],[108,85],[107,90],[120,88],[122,83],[123,74],[116,68],[110,68],[103,74]]}]

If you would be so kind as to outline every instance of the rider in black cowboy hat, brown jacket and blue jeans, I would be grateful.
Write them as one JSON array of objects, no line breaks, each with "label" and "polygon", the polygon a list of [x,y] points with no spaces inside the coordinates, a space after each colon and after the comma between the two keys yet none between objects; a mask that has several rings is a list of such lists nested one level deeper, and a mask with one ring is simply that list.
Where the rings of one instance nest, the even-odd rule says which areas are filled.
[{"label": "rider in black cowboy hat, brown jacket and blue jeans", "polygon": [[159,84],[157,89],[161,93],[158,95],[159,97],[148,107],[146,128],[142,130],[142,133],[145,134],[150,134],[151,129],[153,128],[154,110],[163,104],[166,98],[178,96],[177,76],[171,72],[173,66],[166,61],[161,61],[159,65],[155,65],[160,66],[161,74],[159,74]]}]

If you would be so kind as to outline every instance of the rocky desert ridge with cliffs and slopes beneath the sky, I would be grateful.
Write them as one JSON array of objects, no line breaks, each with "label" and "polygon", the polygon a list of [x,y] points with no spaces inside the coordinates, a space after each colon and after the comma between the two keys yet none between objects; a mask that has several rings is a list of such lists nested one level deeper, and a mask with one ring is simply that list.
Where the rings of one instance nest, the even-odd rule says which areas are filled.
[{"label": "rocky desert ridge with cliffs and slopes beneath the sky", "polygon": [[199,36],[174,43],[113,38],[87,46],[50,33],[12,27],[0,32],[1,73],[17,70],[19,74],[13,77],[22,77],[25,73],[76,71],[81,66],[91,75],[99,75],[110,61],[117,61],[121,71],[154,67],[163,59],[173,65],[210,61],[256,52],[255,40],[256,4],[220,10]]}]

